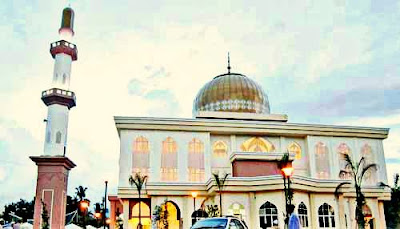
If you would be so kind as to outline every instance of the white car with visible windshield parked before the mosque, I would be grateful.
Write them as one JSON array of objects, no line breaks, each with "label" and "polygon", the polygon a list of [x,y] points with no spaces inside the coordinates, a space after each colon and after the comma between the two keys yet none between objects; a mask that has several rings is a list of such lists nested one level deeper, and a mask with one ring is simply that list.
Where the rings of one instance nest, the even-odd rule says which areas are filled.
[{"label": "white car with visible windshield parked before the mosque", "polygon": [[197,221],[191,229],[248,229],[246,224],[236,217],[215,217]]}]

